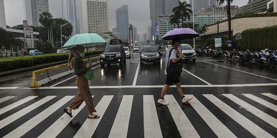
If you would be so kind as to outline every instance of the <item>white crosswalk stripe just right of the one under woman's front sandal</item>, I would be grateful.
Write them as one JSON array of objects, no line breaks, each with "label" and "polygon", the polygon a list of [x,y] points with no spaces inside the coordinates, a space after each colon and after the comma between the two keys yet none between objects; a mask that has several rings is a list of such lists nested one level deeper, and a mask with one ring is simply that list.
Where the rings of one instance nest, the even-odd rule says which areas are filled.
[{"label": "white crosswalk stripe just right of the one under woman's front sandal", "polygon": [[132,95],[124,95],[120,107],[114,119],[109,137],[127,137],[130,121],[131,108],[133,103]]}]

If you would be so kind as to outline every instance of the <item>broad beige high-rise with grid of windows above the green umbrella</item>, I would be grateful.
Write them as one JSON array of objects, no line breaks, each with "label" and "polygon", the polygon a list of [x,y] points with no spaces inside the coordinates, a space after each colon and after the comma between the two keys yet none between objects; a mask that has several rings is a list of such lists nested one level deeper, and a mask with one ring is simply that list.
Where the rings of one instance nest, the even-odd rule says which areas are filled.
[{"label": "broad beige high-rise with grid of windows above the green umbrella", "polygon": [[107,0],[82,0],[81,33],[103,34],[109,32]]}]

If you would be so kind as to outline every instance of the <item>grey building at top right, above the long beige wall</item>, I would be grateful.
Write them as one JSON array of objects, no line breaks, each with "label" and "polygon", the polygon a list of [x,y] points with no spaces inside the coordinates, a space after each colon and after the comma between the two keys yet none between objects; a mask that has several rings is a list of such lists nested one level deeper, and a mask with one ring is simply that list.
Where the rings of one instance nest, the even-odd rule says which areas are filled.
[{"label": "grey building at top right, above the long beige wall", "polygon": [[249,0],[248,4],[243,6],[243,12],[260,13],[267,10],[267,3],[270,0]]}]

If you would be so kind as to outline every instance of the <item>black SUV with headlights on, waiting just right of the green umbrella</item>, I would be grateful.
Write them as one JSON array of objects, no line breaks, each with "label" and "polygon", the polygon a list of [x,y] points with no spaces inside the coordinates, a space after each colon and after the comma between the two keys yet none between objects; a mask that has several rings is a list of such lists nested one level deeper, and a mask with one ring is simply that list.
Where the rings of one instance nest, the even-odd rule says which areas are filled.
[{"label": "black SUV with headlights on, waiting just right of the green umbrella", "polygon": [[126,64],[126,56],[124,48],[121,45],[108,45],[100,58],[100,64],[120,63]]}]

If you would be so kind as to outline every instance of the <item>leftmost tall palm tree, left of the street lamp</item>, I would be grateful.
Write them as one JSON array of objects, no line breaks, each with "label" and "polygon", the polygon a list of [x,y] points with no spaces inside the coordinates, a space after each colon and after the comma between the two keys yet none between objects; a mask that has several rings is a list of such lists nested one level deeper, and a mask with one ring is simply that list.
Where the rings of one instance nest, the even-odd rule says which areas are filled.
[{"label": "leftmost tall palm tree, left of the street lamp", "polygon": [[39,14],[39,22],[47,29],[47,34],[48,34],[48,42],[50,42],[49,39],[49,27],[53,23],[53,16],[49,12],[42,12],[42,14]]}]

